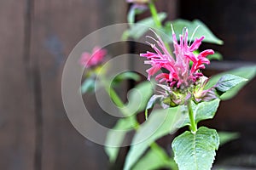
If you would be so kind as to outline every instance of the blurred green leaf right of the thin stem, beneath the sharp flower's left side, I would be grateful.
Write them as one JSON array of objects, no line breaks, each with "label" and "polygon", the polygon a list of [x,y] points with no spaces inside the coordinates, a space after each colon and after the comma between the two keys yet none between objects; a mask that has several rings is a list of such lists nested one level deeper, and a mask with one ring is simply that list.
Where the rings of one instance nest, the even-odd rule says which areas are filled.
[{"label": "blurred green leaf right of the thin stem, beneath the sharp flower's left side", "polygon": [[151,82],[141,82],[135,88],[132,88],[128,93],[129,102],[122,108],[127,113],[127,116],[144,111],[148,99],[153,94],[153,86]]}]

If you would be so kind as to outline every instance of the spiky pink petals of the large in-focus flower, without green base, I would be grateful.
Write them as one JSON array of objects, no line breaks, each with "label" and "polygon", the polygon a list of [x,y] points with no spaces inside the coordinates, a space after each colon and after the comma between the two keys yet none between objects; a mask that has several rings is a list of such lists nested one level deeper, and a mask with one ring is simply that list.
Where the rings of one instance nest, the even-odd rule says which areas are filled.
[{"label": "spiky pink petals of the large in-focus flower, without green base", "polygon": [[[203,76],[200,69],[205,69],[204,64],[210,64],[209,59],[206,57],[209,54],[214,54],[214,51],[212,49],[207,49],[198,55],[193,54],[193,52],[199,48],[204,37],[199,39],[195,38],[195,41],[189,45],[188,30],[184,29],[183,35],[180,35],[180,42],[178,43],[176,35],[172,29],[172,40],[175,54],[175,58],[173,58],[172,54],[168,52],[162,39],[155,32],[154,34],[157,37],[157,40],[153,37],[149,38],[154,40],[158,47],[156,47],[154,43],[149,44],[154,49],[155,53],[147,52],[146,54],[140,54],[142,57],[146,57],[148,59],[145,61],[145,64],[152,66],[147,70],[148,80],[150,80],[150,77],[154,76],[154,74],[162,68],[166,69],[168,73],[160,73],[155,77],[155,79],[159,80],[159,82],[166,82],[170,87],[189,87],[189,85],[196,82],[199,77]],[[190,60],[193,62],[191,68],[189,67]]]}]

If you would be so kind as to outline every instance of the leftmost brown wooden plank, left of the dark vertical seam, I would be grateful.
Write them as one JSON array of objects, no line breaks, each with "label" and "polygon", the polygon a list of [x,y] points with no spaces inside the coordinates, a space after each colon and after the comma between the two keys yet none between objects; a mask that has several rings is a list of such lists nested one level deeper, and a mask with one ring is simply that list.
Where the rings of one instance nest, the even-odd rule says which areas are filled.
[{"label": "leftmost brown wooden plank, left of the dark vertical seam", "polygon": [[28,11],[25,0],[0,3],[0,169],[34,169],[34,107],[26,62]]}]

